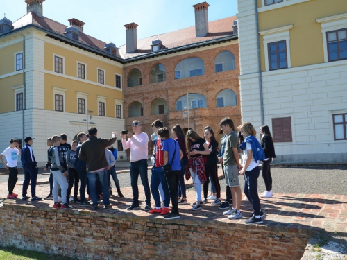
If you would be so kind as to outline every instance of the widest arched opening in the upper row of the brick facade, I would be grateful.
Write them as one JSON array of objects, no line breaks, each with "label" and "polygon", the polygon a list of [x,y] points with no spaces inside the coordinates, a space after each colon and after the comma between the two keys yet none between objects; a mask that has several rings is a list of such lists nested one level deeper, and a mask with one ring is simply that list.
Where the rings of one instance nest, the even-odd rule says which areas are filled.
[{"label": "widest arched opening in the upper row of the brick facade", "polygon": [[201,58],[181,60],[175,67],[175,80],[205,75],[205,67]]}]

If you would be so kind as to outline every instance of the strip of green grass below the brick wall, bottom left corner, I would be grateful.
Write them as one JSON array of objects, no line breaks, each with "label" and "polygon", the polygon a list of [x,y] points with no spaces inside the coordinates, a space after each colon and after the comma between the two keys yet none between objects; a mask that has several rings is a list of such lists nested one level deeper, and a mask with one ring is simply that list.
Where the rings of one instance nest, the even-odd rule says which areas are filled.
[{"label": "strip of green grass below the brick wall, bottom left corner", "polygon": [[46,254],[31,250],[22,250],[14,247],[0,247],[0,260],[70,260],[56,254]]}]

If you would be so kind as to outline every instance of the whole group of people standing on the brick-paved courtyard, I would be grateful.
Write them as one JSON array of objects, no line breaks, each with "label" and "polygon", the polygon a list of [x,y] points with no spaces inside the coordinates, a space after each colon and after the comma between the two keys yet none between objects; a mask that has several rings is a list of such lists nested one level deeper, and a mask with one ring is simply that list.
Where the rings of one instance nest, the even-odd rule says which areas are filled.
[{"label": "whole group of people standing on the brick-paved courtyard", "polygon": [[[272,178],[270,164],[276,157],[273,140],[269,127],[260,128],[261,144],[257,140],[256,131],[249,122],[239,125],[239,135],[235,130],[232,119],[226,117],[220,122],[224,133],[221,139],[221,148],[210,126],[204,128],[202,138],[194,130],[188,130],[184,135],[180,125],[175,125],[171,131],[163,126],[162,121],[155,120],[151,124],[153,135],[153,156],[151,158],[151,182],[148,179],[148,144],[149,137],[142,132],[142,123],[133,121],[133,132],[122,131],[121,139],[124,150],[130,149],[130,182],[133,190],[133,203],[127,209],[139,209],[138,177],[141,177],[146,197],[145,211],[151,214],[160,214],[165,219],[179,218],[179,204],[187,204],[185,180],[192,178],[196,193],[192,202],[192,210],[197,211],[202,205],[212,201],[219,209],[226,209],[229,219],[242,218],[240,211],[242,191],[239,184],[239,175],[244,175],[244,193],[253,205],[253,214],[246,220],[247,224],[262,223],[264,211],[260,206],[257,193],[257,179],[260,175],[259,161],[262,162],[262,177],[266,191],[261,194],[263,198],[272,196]],[[89,135],[89,136],[88,136]],[[110,177],[116,184],[119,197],[120,191],[115,160],[117,150],[111,145],[116,141],[117,132],[112,132],[112,138],[97,138],[96,128],[90,128],[88,135],[84,132],[78,134],[78,141],[67,144],[65,134],[53,135],[47,139],[48,162],[45,170],[50,167],[50,193],[45,199],[53,199],[53,208],[69,209],[69,200],[88,206],[92,200],[93,209],[103,200],[104,207],[110,208],[109,196],[112,195]],[[170,136],[174,138],[171,138]],[[41,200],[35,194],[37,177],[37,163],[33,155],[33,138],[24,139],[25,146],[19,150],[18,142],[10,140],[10,147],[1,153],[0,160],[6,157],[6,168],[9,170],[8,198],[17,198],[13,188],[17,182],[17,155],[21,155],[24,168],[24,184],[22,200],[28,200],[26,190],[31,180],[31,200]],[[242,154],[240,163],[239,153]],[[3,164],[5,164],[3,162]],[[219,184],[217,167],[221,164],[226,179],[226,199],[221,202],[221,187]],[[78,199],[78,182],[80,184],[80,198]],[[89,185],[88,185],[89,184]],[[210,185],[209,185],[210,184]],[[201,197],[203,186],[203,198]],[[74,187],[74,197],[70,197]],[[209,187],[211,189],[208,194]],[[85,191],[90,195],[86,198]],[[59,195],[59,196],[58,196]],[[155,206],[151,207],[151,195]],[[90,198],[91,197],[91,198]],[[61,200],[61,203],[60,203]],[[171,212],[169,203],[171,200]]]}]

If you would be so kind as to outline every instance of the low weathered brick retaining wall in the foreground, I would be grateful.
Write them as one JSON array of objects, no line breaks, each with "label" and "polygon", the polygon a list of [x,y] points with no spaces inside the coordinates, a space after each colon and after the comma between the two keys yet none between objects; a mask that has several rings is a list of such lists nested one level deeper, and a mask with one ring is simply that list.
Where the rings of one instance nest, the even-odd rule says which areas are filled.
[{"label": "low weathered brick retaining wall in the foreground", "polygon": [[131,211],[0,207],[0,245],[78,259],[301,259],[316,229],[244,225]]}]

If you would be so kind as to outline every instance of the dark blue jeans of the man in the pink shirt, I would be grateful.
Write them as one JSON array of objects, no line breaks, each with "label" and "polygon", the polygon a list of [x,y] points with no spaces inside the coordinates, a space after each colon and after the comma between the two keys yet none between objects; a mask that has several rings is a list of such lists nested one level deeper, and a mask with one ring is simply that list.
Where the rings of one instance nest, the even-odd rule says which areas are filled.
[{"label": "dark blue jeans of the man in the pink shirt", "polygon": [[139,187],[137,180],[141,177],[144,187],[144,195],[146,196],[146,205],[151,206],[151,189],[149,189],[149,175],[147,173],[147,159],[141,159],[136,162],[130,162],[130,182],[133,189],[133,205],[139,205]]}]

